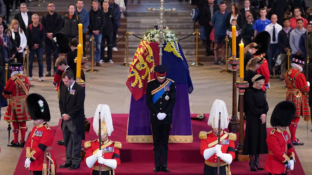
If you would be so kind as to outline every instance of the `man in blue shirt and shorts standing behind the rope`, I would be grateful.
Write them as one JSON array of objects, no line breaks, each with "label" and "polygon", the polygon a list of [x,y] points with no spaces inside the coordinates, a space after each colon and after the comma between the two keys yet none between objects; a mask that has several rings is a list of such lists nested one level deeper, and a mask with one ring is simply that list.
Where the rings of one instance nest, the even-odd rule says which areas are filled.
[{"label": "man in blue shirt and shorts standing behind the rope", "polygon": [[[214,55],[215,65],[218,65],[218,48],[221,47],[222,60],[221,63],[225,64],[225,36],[227,35],[226,19],[229,12],[226,10],[227,5],[225,1],[220,2],[220,10],[216,11],[212,17],[212,26],[214,27]],[[208,36],[207,36],[208,37]]]}]

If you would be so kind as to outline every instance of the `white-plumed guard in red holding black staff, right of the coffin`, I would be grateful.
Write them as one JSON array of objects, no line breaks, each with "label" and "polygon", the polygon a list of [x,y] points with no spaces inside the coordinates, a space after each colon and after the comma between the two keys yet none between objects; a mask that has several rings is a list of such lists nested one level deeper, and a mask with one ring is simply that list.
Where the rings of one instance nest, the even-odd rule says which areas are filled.
[{"label": "white-plumed guard in red holding black staff, right of the coffin", "polygon": [[[218,144],[219,112],[221,112],[220,144]],[[227,128],[229,121],[225,103],[216,99],[213,102],[208,119],[208,125],[211,126],[212,130],[199,133],[199,138],[202,139],[200,154],[205,158],[204,175],[217,174],[218,157],[220,158],[220,175],[230,173],[230,164],[235,158],[234,141],[236,140],[236,134],[223,131]]]}]

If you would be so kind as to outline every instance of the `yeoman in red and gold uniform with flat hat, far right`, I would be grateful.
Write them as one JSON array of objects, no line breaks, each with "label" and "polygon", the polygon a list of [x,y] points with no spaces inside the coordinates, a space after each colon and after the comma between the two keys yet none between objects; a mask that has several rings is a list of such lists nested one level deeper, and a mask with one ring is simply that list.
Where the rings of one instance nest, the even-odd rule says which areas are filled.
[{"label": "yeoman in red and gold uniform with flat hat, far right", "polygon": [[296,106],[295,117],[289,125],[290,140],[293,145],[303,145],[303,142],[296,138],[296,130],[300,116],[304,117],[305,121],[310,121],[310,108],[307,99],[310,83],[305,81],[305,75],[302,73],[305,59],[295,55],[292,61],[292,68],[285,73],[286,100],[292,101]]}]

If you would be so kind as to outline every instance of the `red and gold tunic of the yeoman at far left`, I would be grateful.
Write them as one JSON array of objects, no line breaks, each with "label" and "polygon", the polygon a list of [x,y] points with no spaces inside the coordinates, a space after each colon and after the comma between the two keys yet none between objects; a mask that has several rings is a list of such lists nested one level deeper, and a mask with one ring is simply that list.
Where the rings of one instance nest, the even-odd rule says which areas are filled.
[{"label": "red and gold tunic of the yeoman at far left", "polygon": [[[7,81],[2,93],[3,97],[9,99],[4,120],[8,122],[31,120],[26,105],[26,97],[29,88],[30,83],[27,77],[23,76],[21,73],[15,74]],[[10,95],[12,96],[12,100],[10,100]],[[14,115],[15,112],[13,109],[16,111],[17,118]]]}]

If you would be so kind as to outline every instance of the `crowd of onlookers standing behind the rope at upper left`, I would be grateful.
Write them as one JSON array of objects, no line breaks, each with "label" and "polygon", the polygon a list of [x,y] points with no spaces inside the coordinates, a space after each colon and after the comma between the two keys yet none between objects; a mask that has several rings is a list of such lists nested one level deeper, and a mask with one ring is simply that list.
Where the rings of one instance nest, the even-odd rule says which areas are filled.
[{"label": "crowd of onlookers standing behind the rope at upper left", "polygon": [[[15,10],[19,12],[10,22],[9,16],[10,11],[13,11],[14,2]],[[77,0],[76,6],[74,4],[68,6],[68,13],[63,17],[55,12],[56,4],[49,2],[47,5],[48,12],[39,17],[37,14],[27,11],[25,0],[4,0],[4,2],[0,0],[0,66],[4,66],[4,64],[15,59],[17,62],[25,64],[25,50],[28,48],[30,52],[29,80],[32,80],[32,64],[34,56],[37,55],[39,80],[44,81],[43,53],[45,50],[45,76],[54,76],[57,70],[56,59],[62,54],[56,47],[55,43],[57,42],[54,34],[62,32],[68,41],[74,38],[78,39],[79,23],[82,24],[83,43],[80,44],[83,45],[84,55],[85,50],[87,50],[85,40],[88,29],[89,38],[94,35],[96,42],[95,66],[101,66],[102,62],[114,63],[112,52],[118,51],[116,38],[120,27],[120,17],[123,17],[122,13],[125,10],[125,2],[127,1],[92,0],[91,3],[88,1],[88,7],[85,9],[84,1]],[[40,18],[41,20],[39,20]],[[53,42],[53,40],[55,41]],[[107,56],[105,56],[105,51]],[[52,57],[53,59],[51,59]]]}]

